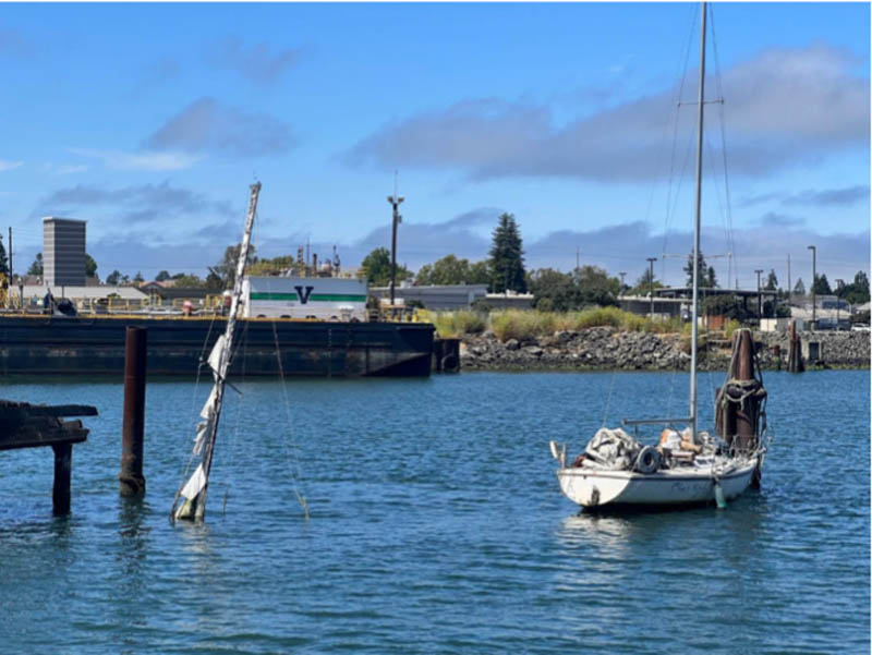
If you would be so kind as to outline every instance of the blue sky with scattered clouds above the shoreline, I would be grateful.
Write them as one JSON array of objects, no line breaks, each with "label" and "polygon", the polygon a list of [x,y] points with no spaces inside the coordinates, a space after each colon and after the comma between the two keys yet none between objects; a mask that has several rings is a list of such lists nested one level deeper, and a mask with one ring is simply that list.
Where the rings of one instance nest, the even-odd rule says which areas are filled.
[{"label": "blue sky with scattered clouds above the shoreline", "polygon": [[[720,286],[870,266],[870,4],[713,3],[702,252]],[[0,232],[87,221],[98,275],[257,254],[483,259],[683,283],[695,3],[3,4]],[[790,270],[788,272],[788,260]],[[764,272],[764,280],[765,275]]]}]

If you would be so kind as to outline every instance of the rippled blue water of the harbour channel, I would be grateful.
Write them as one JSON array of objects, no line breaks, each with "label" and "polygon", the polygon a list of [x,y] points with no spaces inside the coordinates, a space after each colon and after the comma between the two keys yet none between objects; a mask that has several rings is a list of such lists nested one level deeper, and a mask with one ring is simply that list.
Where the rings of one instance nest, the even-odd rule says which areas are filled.
[{"label": "rippled blue water of the harbour channel", "polygon": [[[719,381],[702,374],[700,397]],[[7,379],[5,398],[100,416],[69,518],[51,517],[49,449],[0,454],[0,652],[868,653],[869,372],[765,383],[761,493],[603,517],[559,494],[548,440],[572,457],[606,414],[675,414],[686,376],[304,380],[289,414],[279,384],[243,383],[207,522],[173,527],[205,385],[149,385],[135,504],[118,497],[121,385]]]}]

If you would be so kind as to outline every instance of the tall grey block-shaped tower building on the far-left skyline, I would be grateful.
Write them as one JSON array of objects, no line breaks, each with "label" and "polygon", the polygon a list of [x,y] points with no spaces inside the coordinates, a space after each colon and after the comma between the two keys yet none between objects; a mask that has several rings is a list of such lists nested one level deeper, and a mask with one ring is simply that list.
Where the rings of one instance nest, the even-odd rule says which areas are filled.
[{"label": "tall grey block-shaped tower building on the far-left skyline", "polygon": [[43,219],[43,280],[47,287],[85,286],[85,221]]}]

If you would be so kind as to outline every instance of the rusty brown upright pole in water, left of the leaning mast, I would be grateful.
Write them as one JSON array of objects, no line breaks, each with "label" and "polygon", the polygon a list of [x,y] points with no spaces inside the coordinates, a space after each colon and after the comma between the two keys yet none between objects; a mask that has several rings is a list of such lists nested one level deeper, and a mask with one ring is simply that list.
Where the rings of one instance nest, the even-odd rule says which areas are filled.
[{"label": "rusty brown upright pole in water, left of the leaning mast", "polygon": [[122,496],[145,494],[143,442],[145,440],[145,372],[148,330],[129,327],[124,344],[124,416],[121,423]]}]

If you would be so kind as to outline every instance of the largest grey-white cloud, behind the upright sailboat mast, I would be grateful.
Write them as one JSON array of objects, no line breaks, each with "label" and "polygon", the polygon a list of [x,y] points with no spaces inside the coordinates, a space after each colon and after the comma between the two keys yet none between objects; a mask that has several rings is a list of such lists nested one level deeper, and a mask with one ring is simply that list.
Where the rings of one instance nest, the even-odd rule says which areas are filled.
[{"label": "largest grey-white cloud, behind the upright sailboat mast", "polygon": [[[833,153],[868,151],[869,77],[855,60],[824,45],[758,53],[723,74],[730,170],[758,175]],[[716,86],[707,94],[715,98]],[[682,101],[692,102],[694,89]],[[547,106],[467,99],[384,125],[348,154],[352,165],[460,170],[472,179],[506,177],[640,181],[663,177],[664,125],[678,88],[557,124]],[[711,141],[720,113],[706,120]],[[679,113],[691,134],[692,107]],[[671,133],[671,130],[668,132]],[[683,144],[683,142],[681,142]],[[720,153],[713,153],[720,158]],[[667,162],[668,163],[668,162]]]}]

